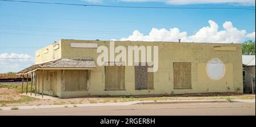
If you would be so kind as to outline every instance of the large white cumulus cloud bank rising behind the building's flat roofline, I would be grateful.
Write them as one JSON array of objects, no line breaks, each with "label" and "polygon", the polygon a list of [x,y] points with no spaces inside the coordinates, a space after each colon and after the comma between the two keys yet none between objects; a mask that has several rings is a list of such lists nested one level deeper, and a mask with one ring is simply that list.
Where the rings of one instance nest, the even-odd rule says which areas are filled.
[{"label": "large white cumulus cloud bank rising behind the building's flat roofline", "polygon": [[[162,28],[152,28],[148,35],[135,30],[129,37],[123,37],[121,41],[174,41],[181,39],[182,42],[195,43],[241,43],[245,37],[255,39],[255,32],[246,35],[245,30],[239,30],[233,27],[232,22],[225,22],[222,26],[224,30],[219,31],[219,26],[212,20],[209,20],[209,26],[199,29],[195,34],[188,36],[187,32],[181,32],[179,28],[169,30]],[[254,34],[254,35],[253,35]]]}]

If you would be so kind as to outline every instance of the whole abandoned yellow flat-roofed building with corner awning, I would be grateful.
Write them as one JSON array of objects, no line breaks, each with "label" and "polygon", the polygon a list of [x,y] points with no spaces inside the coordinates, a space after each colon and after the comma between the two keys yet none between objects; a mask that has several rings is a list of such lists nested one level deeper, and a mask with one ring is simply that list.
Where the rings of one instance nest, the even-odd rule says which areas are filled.
[{"label": "whole abandoned yellow flat-roofed building with corner awning", "polygon": [[139,66],[99,66],[99,46],[112,50],[109,41],[62,39],[37,50],[35,65],[18,74],[32,74],[36,94],[60,98],[243,92],[241,44],[115,41],[115,47],[127,50],[158,46],[153,72],[142,65],[142,57]]}]

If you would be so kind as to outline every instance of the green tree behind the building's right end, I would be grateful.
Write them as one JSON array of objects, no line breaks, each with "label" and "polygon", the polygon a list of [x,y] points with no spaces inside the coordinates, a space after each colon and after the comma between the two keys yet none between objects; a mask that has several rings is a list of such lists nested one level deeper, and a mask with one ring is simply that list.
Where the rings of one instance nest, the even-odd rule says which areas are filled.
[{"label": "green tree behind the building's right end", "polygon": [[255,40],[247,40],[242,43],[242,54],[255,54]]}]

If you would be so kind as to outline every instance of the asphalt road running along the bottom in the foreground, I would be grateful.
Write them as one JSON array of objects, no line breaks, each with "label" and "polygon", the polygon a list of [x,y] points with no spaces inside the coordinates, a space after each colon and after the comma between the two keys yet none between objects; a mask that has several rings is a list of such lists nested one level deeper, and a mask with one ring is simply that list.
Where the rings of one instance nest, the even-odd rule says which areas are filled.
[{"label": "asphalt road running along the bottom in the foreground", "polygon": [[255,103],[137,104],[105,107],[18,109],[0,111],[0,115],[253,115]]}]

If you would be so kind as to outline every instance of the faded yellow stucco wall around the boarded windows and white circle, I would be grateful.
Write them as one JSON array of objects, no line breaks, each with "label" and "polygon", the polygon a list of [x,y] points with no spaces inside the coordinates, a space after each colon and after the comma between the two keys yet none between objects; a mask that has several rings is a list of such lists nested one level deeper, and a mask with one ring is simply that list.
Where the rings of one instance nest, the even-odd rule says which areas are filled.
[{"label": "faded yellow stucco wall around the boarded windows and white circle", "polygon": [[[96,52],[97,48],[71,48],[71,43],[97,43],[98,46],[106,45],[109,47],[109,41],[61,40],[59,43],[60,48],[55,51],[55,58],[92,57],[95,62],[98,55],[101,54]],[[242,92],[241,44],[115,41],[115,47],[118,45],[126,46],[126,49],[128,45],[158,46],[159,67],[158,71],[154,73],[154,90],[135,90],[134,66],[126,66],[126,90],[105,91],[105,69],[104,66],[98,66],[96,63],[96,69],[91,71],[90,87],[88,91],[60,90],[60,96],[67,98],[86,95],[158,95],[171,93]],[[50,49],[49,51],[51,51],[51,46],[52,45],[48,47]],[[229,47],[228,49],[232,50],[225,50],[225,48],[214,50],[214,47],[220,46],[226,46]],[[42,52],[42,49],[40,51]],[[117,54],[118,53],[116,53],[115,56]],[[52,59],[51,55],[52,53],[42,54],[42,56],[36,58],[36,62],[39,63],[50,60]],[[221,79],[213,80],[207,75],[207,64],[212,58],[218,58],[225,65],[225,75]],[[174,89],[173,62],[192,63],[192,89]],[[58,74],[60,77],[60,72]],[[65,73],[65,75],[68,75],[68,73]],[[74,83],[76,82],[74,81]],[[61,86],[61,81],[58,81],[58,84]],[[237,91],[238,88],[240,88],[240,91]]]}]

